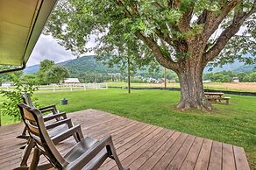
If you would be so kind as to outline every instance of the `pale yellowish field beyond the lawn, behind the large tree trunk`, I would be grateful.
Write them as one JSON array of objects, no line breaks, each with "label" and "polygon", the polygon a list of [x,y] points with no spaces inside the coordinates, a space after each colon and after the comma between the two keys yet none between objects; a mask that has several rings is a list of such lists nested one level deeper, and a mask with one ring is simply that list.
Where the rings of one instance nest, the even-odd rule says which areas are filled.
[{"label": "pale yellowish field beyond the lawn, behind the large tree trunk", "polygon": [[[127,87],[125,82],[108,82],[109,87]],[[134,88],[164,88],[164,84],[158,83],[132,83]],[[180,88],[179,83],[167,83],[167,88]],[[204,89],[219,89],[219,90],[230,90],[230,91],[249,91],[256,92],[256,82],[211,82],[205,83]]]}]

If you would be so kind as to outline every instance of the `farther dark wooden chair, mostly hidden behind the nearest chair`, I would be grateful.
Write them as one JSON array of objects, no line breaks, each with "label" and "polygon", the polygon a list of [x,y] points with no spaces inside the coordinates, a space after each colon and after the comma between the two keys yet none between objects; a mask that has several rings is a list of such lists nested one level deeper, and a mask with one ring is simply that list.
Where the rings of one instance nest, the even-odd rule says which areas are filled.
[{"label": "farther dark wooden chair, mostly hidden behind the nearest chair", "polygon": [[[25,104],[27,104],[28,106],[30,106],[32,108],[36,108],[35,105],[32,103],[32,99],[31,99],[31,97],[28,93],[24,93],[23,96],[22,96],[22,99],[23,99],[23,102]],[[44,122],[46,124],[47,124],[47,122],[50,122],[52,124],[53,120],[60,121],[60,120],[67,119],[67,114],[65,112],[59,112],[59,110],[56,109],[55,105],[41,107],[41,108],[39,108],[39,110],[43,114],[48,113],[48,114],[43,116]],[[50,124],[50,123],[48,123],[48,124]],[[51,126],[49,126],[49,127],[51,127]],[[24,130],[22,131],[22,134],[19,135],[17,138],[28,139],[29,136],[26,134],[26,131],[27,131],[27,129],[25,127]]]}]

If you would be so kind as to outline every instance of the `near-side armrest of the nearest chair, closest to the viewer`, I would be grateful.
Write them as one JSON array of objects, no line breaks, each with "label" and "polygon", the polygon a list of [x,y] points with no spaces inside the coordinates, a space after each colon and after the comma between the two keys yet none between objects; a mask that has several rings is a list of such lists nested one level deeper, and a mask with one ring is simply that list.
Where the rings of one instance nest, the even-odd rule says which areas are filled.
[{"label": "near-side armrest of the nearest chair, closest to the viewer", "polygon": [[[81,169],[83,166],[87,165],[91,159],[95,158],[96,155],[101,152],[107,145],[110,145],[110,148],[114,147],[111,136],[97,141],[95,145],[87,150],[87,152],[84,152],[78,159],[75,159],[73,162],[71,162],[68,165],[68,169]],[[107,154],[107,150],[105,154]]]}]

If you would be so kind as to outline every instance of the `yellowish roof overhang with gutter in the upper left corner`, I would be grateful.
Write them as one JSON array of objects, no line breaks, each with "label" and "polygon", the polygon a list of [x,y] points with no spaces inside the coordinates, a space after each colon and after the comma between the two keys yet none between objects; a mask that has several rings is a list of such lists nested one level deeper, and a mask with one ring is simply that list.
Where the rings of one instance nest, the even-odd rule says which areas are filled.
[{"label": "yellowish roof overhang with gutter in the upper left corner", "polygon": [[0,1],[0,65],[25,68],[56,1]]}]

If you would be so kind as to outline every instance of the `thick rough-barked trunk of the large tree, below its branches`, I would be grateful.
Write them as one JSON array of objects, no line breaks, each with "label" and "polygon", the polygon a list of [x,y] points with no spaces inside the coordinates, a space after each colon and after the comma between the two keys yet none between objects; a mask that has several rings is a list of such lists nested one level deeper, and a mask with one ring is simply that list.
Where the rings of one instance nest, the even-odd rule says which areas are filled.
[{"label": "thick rough-barked trunk of the large tree, below its branches", "polygon": [[203,66],[200,62],[189,60],[183,64],[177,73],[181,85],[181,100],[177,108],[188,110],[211,110],[211,104],[204,96],[203,91]]}]

